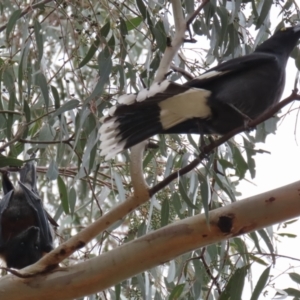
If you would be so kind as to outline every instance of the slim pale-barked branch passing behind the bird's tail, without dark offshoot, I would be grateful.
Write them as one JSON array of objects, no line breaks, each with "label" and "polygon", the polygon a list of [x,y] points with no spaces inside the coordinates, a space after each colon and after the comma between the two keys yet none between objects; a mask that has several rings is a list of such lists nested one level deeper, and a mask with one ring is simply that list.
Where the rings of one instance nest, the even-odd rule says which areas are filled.
[{"label": "slim pale-barked branch passing behind the bird's tail, without dark offshoot", "polygon": [[[182,6],[180,0],[172,0],[173,15],[175,22],[176,34],[172,46],[168,47],[164,54],[160,67],[156,75],[156,81],[164,79],[165,74],[170,69],[170,64],[174,55],[177,53],[179,47],[184,41],[184,34],[186,31],[186,21],[183,18]],[[22,269],[21,271],[15,272],[19,276],[30,277],[34,274],[46,272],[57,267],[57,265],[69,257],[76,250],[84,247],[94,237],[103,232],[113,223],[121,220],[129,212],[141,204],[147,202],[150,199],[148,186],[145,183],[144,175],[142,172],[142,153],[144,152],[145,144],[141,143],[136,145],[135,149],[131,153],[132,165],[130,167],[132,184],[134,187],[134,194],[130,196],[126,201],[120,203],[114,207],[107,214],[96,220],[86,229],[79,232],[75,237],[72,237],[67,242],[54,249],[46,256],[44,256],[37,263]],[[138,166],[139,165],[139,166]]]}]

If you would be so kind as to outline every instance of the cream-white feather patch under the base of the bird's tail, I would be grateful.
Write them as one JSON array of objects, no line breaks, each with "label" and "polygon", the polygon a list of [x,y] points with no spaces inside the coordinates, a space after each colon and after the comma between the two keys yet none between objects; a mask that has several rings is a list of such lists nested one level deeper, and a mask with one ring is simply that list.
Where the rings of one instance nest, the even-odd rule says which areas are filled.
[{"label": "cream-white feather patch under the base of the bird's tail", "polygon": [[160,102],[158,105],[163,129],[169,129],[192,118],[209,118],[211,110],[207,99],[210,94],[207,90],[191,88]]}]

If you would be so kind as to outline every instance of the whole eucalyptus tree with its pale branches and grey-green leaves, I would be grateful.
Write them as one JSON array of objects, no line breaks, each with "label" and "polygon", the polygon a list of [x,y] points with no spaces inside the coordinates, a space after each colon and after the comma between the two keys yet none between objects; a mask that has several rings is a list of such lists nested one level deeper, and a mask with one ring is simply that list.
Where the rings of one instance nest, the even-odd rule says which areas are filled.
[{"label": "whole eucalyptus tree with its pale branches and grey-green leaves", "polygon": [[[300,99],[296,69],[294,91],[252,120],[253,131],[205,136],[204,145],[198,135],[154,136],[108,161],[98,133],[122,94],[165,76],[185,83],[294,26],[296,1],[2,1],[0,9],[1,168],[16,172],[36,152],[40,195],[60,225],[53,252],[3,271],[1,299],[300,298],[299,274],[287,271],[284,290],[271,276],[284,255],[272,224],[300,214],[299,183],[237,201],[239,183],[255,177],[256,143]],[[291,59],[299,69],[299,48]]]}]

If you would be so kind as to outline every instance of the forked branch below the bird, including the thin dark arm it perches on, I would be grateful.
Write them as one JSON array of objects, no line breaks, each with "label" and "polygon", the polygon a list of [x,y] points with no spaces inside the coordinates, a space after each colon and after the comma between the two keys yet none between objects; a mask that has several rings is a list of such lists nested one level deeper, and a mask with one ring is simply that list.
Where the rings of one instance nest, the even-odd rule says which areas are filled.
[{"label": "forked branch below the bird, including the thin dark arm it perches on", "polygon": [[[259,123],[269,119],[278,110],[294,100],[300,100],[300,95],[297,94],[297,91],[294,91],[289,97],[282,100],[280,103],[277,103],[277,105],[272,107],[269,111],[267,111],[257,119],[251,121],[249,123],[249,126],[254,127]],[[63,259],[69,257],[73,252],[82,248],[86,243],[90,242],[93,238],[106,230],[112,224],[121,220],[128,213],[132,212],[134,209],[147,202],[151,196],[166,187],[178,176],[182,176],[193,170],[215,148],[225,143],[234,135],[243,132],[244,130],[245,128],[241,126],[229,132],[227,135],[220,137],[218,140],[215,140],[206,145],[205,147],[203,147],[204,152],[202,152],[199,157],[195,158],[184,168],[170,174],[167,178],[153,186],[151,189],[149,189],[149,187],[147,186],[142,171],[142,155],[146,143],[143,142],[136,145],[135,147],[132,147],[130,172],[134,188],[133,195],[128,197],[126,201],[121,202],[120,204],[115,206],[111,211],[96,220],[89,227],[83,229],[76,236],[70,238],[68,241],[61,244],[58,248],[48,253],[37,263],[28,266],[20,271],[17,271],[15,272],[15,274],[19,275],[20,277],[31,277],[35,274],[50,271],[56,268],[57,264],[59,264]]]}]

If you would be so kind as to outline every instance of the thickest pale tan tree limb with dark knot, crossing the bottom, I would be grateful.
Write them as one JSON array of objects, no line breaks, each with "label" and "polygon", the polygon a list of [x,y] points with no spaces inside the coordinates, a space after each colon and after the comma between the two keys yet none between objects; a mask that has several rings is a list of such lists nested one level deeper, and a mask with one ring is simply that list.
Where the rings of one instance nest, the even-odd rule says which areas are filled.
[{"label": "thickest pale tan tree limb with dark knot, crossing the bottom", "polygon": [[86,262],[50,274],[0,281],[1,300],[67,300],[114,286],[178,255],[300,215],[300,181],[149,233]]}]

